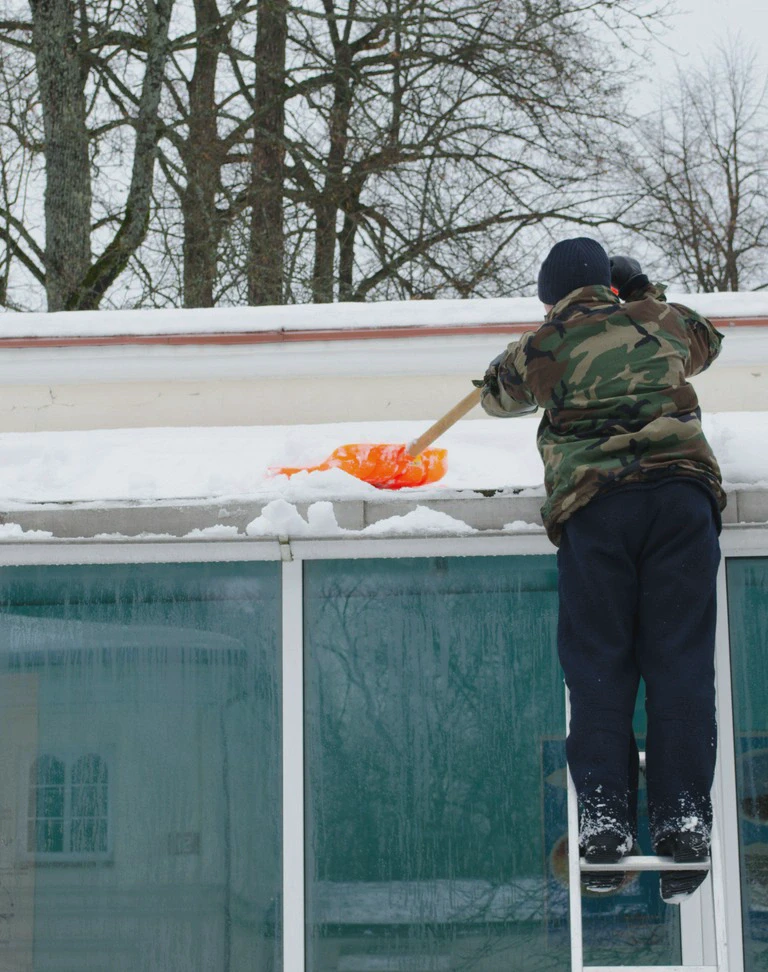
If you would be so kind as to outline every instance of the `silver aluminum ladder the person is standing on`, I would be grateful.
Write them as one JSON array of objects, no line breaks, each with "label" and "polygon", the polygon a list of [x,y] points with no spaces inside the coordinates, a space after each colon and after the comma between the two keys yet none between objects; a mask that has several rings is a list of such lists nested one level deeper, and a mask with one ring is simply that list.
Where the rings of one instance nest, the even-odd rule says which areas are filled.
[{"label": "silver aluminum ladder the person is standing on", "polygon": [[[565,731],[568,734],[571,723],[571,704],[568,688],[565,689]],[[645,753],[640,753],[640,768],[645,767]],[[725,887],[723,883],[722,845],[717,832],[719,814],[713,813],[710,858],[702,864],[678,864],[671,857],[654,855],[630,855],[617,864],[591,864],[579,856],[579,810],[576,787],[571,771],[566,767],[568,787],[568,899],[571,933],[571,972],[728,972],[727,925],[725,914]],[[714,796],[713,796],[714,800]],[[701,888],[702,893],[710,889],[716,965],[584,965],[584,933],[581,912],[581,872],[589,871],[698,871],[710,872],[709,880]],[[698,891],[695,893],[699,893]],[[676,906],[672,906],[676,907]]]}]

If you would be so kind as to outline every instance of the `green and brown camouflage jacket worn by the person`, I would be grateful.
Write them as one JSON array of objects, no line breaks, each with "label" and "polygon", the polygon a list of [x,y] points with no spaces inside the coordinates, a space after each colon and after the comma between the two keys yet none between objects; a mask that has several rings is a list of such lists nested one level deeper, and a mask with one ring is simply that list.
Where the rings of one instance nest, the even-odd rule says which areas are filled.
[{"label": "green and brown camouflage jacket worn by the person", "polygon": [[607,287],[574,290],[537,331],[509,345],[498,385],[486,374],[482,405],[502,417],[544,409],[537,439],[547,490],[542,516],[555,544],[572,513],[624,483],[692,477],[725,506],[686,381],[714,361],[721,341],[706,318],[668,304],[662,287],[648,285],[627,303]]}]

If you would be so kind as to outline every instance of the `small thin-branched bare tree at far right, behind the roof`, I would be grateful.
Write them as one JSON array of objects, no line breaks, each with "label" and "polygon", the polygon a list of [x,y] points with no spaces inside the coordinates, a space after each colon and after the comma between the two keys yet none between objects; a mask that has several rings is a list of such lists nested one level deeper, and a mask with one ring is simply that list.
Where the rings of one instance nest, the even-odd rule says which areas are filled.
[{"label": "small thin-branched bare tree at far right, behind the roof", "polygon": [[768,286],[767,86],[743,46],[719,48],[705,69],[680,69],[674,95],[629,149],[639,201],[626,222],[688,287]]}]

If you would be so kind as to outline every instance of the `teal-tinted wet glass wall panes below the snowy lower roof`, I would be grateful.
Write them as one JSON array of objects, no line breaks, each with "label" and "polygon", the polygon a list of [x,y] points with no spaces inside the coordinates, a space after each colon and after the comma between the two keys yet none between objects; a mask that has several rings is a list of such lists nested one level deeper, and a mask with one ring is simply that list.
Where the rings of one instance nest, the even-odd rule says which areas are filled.
[{"label": "teal-tinted wet glass wall panes below the snowy lower roof", "polygon": [[[727,579],[768,972],[768,560]],[[0,569],[0,972],[280,972],[280,598],[277,563]],[[310,972],[569,968],[556,617],[547,556],[305,562]],[[681,960],[656,874],[584,913],[588,964]]]}]

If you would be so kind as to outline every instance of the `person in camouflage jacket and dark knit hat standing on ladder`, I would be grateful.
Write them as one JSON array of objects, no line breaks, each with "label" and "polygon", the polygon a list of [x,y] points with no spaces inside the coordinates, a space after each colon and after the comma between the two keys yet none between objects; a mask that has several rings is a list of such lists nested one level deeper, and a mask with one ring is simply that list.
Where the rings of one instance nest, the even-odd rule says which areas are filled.
[{"label": "person in camouflage jacket and dark knit hat standing on ladder", "polygon": [[[563,240],[538,278],[544,323],[495,358],[489,415],[544,410],[542,516],[559,547],[558,652],[570,691],[566,753],[579,798],[580,853],[616,863],[637,837],[632,730],[646,686],[646,782],[654,850],[709,854],[716,753],[714,644],[725,493],[687,381],[722,335],[667,303],[629,257],[587,237]],[[592,891],[616,872],[584,875]],[[704,871],[661,874],[667,902]]]}]

